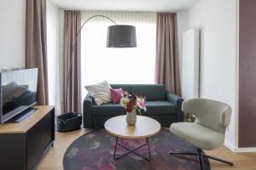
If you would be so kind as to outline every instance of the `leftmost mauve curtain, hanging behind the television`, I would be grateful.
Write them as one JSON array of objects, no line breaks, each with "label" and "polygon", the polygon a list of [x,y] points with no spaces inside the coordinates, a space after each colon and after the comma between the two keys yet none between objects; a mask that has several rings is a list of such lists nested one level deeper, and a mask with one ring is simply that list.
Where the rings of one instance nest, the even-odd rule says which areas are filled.
[{"label": "leftmost mauve curtain, hanging behind the television", "polygon": [[48,105],[45,0],[26,0],[26,68],[38,68],[38,105]]}]

